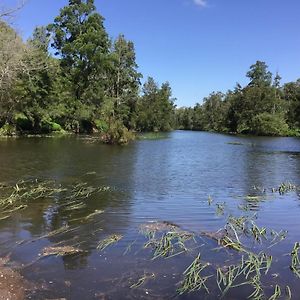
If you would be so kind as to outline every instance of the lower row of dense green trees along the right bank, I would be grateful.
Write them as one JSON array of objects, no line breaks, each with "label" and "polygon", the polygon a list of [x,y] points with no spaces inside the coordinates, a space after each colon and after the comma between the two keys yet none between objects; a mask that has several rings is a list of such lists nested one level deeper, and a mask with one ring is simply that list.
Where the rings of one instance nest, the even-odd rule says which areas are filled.
[{"label": "lower row of dense green trees along the right bank", "polygon": [[270,136],[300,136],[300,79],[280,84],[263,61],[253,64],[249,83],[213,92],[203,103],[176,110],[178,129]]}]

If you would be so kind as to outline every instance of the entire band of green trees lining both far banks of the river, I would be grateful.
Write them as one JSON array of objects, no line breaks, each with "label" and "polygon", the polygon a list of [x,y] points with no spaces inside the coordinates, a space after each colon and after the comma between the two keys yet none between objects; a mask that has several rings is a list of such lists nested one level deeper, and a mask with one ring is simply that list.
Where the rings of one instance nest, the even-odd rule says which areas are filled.
[{"label": "entire band of green trees lining both far banks of the river", "polygon": [[0,7],[0,135],[100,132],[107,143],[172,129],[300,135],[300,79],[281,85],[265,62],[250,67],[246,86],[176,108],[168,82],[141,84],[134,43],[109,37],[94,0],[69,0],[26,42],[6,19],[11,11]]}]

